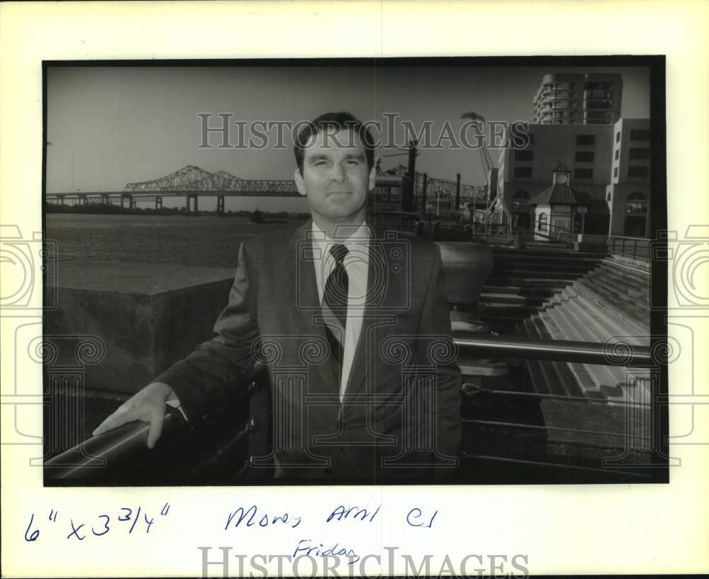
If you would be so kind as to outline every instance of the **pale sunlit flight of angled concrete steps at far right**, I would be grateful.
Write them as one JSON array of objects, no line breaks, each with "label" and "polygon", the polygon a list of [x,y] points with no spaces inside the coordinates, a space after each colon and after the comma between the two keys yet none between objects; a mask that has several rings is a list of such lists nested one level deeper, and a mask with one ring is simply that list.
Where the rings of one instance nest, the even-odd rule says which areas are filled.
[{"label": "pale sunlit flight of angled concrete steps at far right", "polygon": [[632,346],[649,346],[649,273],[605,258],[549,297],[516,326],[519,336],[608,344],[609,365],[528,360],[537,392],[617,404],[648,404],[649,370],[613,365]]}]

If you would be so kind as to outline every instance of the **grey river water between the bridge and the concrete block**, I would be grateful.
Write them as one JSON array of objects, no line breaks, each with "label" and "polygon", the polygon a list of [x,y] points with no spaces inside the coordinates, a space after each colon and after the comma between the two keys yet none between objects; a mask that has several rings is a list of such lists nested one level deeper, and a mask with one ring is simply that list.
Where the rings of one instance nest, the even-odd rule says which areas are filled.
[{"label": "grey river water between the bridge and the concrete block", "polygon": [[250,224],[247,217],[47,214],[57,260],[123,260],[235,268],[242,240],[303,219]]}]

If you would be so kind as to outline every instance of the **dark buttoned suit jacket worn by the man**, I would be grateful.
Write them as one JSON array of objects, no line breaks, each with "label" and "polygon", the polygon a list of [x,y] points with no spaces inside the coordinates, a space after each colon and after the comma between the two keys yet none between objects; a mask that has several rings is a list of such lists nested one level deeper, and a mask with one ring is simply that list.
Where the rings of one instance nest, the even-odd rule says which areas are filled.
[{"label": "dark buttoned suit jacket worn by the man", "polygon": [[244,241],[215,335],[155,381],[173,388],[192,420],[226,389],[245,387],[260,360],[272,388],[276,478],[445,480],[461,436],[461,374],[440,250],[374,230],[362,332],[340,403],[310,231],[308,221]]}]

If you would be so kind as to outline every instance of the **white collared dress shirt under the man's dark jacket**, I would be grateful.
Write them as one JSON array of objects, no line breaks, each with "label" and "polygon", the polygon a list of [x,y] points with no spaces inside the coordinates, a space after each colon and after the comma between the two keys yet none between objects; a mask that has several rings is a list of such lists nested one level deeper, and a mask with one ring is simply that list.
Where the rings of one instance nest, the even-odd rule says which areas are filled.
[{"label": "white collared dress shirt under the man's dark jacket", "polygon": [[318,284],[320,304],[323,303],[325,284],[335,268],[335,258],[330,254],[330,247],[342,244],[347,248],[347,255],[342,262],[347,272],[349,289],[347,292],[347,326],[345,326],[345,348],[342,354],[342,380],[340,381],[340,402],[345,395],[347,380],[352,370],[354,351],[357,350],[359,334],[362,332],[362,316],[367,302],[367,275],[369,274],[369,226],[363,223],[359,227],[340,226],[335,239],[328,236],[313,220],[313,266]]}]

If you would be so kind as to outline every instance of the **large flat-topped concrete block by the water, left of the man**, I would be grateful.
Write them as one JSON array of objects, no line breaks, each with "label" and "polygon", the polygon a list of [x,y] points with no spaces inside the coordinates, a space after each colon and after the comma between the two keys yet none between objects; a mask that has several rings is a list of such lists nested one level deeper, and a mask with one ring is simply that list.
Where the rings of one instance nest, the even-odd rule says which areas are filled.
[{"label": "large flat-topped concrete block by the water, left of the man", "polygon": [[[84,384],[133,393],[211,338],[234,271],[116,260],[60,261],[45,298],[45,336],[97,336],[106,355],[86,365]],[[51,302],[48,302],[51,303]],[[64,353],[72,356],[73,353]],[[72,363],[72,360],[67,360]]]}]

